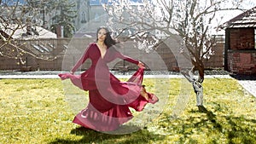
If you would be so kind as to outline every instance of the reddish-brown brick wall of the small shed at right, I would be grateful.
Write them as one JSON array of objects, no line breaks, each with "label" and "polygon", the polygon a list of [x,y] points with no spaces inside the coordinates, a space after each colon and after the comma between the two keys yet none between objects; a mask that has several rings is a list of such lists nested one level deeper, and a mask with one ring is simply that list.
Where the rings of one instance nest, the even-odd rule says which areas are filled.
[{"label": "reddish-brown brick wall of the small shed at right", "polygon": [[256,49],[254,28],[234,28],[229,32],[230,43],[226,45],[228,71],[235,74],[256,74]]}]

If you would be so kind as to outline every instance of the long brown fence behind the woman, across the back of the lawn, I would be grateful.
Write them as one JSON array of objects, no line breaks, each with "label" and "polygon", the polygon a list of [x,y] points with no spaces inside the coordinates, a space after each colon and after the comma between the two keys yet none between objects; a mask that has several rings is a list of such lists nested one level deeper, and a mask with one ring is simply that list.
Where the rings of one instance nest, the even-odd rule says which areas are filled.
[{"label": "long brown fence behind the woman, across the back of the lawn", "polygon": [[[0,56],[0,70],[16,70],[16,71],[61,71],[70,70],[79,57],[84,53],[86,46],[93,42],[92,38],[46,38],[46,39],[33,39],[33,40],[17,40],[18,46],[21,49],[26,49],[33,55],[25,54],[22,56],[22,60],[25,60],[25,64],[20,64],[19,59],[7,58]],[[149,69],[154,70],[177,70],[176,56],[172,54],[172,50],[161,44],[157,50],[154,51],[156,55],[148,56],[145,51],[136,49],[133,42],[128,42],[124,49],[119,51],[125,55],[129,55],[133,58],[142,60],[146,63]],[[7,45],[8,46],[8,45]],[[132,47],[132,48],[131,48]],[[9,48],[10,49],[10,48]],[[130,50],[129,50],[130,49]],[[218,43],[214,46],[214,55],[204,61],[206,68],[223,68],[224,67],[224,39],[219,38]],[[38,58],[36,58],[36,57]],[[155,57],[154,57],[155,56]],[[147,59],[145,58],[147,57]],[[45,60],[49,58],[49,60]],[[155,59],[155,60],[154,60]],[[161,59],[163,62],[158,63],[156,59]],[[90,61],[82,66],[82,69],[86,69],[90,66]],[[120,67],[129,67],[129,69],[135,69],[136,66],[129,62],[119,60],[110,66],[112,69],[119,69]]]}]

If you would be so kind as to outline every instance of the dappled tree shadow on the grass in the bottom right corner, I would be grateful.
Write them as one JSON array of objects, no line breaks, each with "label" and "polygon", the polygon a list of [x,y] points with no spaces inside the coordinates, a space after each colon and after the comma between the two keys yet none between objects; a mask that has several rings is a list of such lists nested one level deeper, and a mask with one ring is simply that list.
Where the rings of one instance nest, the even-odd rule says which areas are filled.
[{"label": "dappled tree shadow on the grass in the bottom right corner", "polygon": [[195,117],[190,117],[186,121],[191,122],[187,126],[183,126],[183,130],[180,132],[183,133],[183,137],[180,137],[180,143],[184,141],[189,142],[198,142],[189,137],[193,132],[188,132],[189,129],[195,128],[196,131],[203,132],[207,129],[208,135],[212,133],[212,135],[216,135],[216,137],[212,136],[211,140],[207,140],[207,143],[218,143],[218,139],[220,139],[221,135],[224,135],[225,141],[224,143],[256,143],[256,129],[252,127],[252,125],[256,126],[255,119],[247,119],[244,117],[235,117],[232,113],[226,115],[215,115],[213,112],[208,111],[206,107],[198,107],[199,111],[190,111],[190,112],[202,112],[206,113],[207,118],[201,118],[199,122],[193,123]]}]

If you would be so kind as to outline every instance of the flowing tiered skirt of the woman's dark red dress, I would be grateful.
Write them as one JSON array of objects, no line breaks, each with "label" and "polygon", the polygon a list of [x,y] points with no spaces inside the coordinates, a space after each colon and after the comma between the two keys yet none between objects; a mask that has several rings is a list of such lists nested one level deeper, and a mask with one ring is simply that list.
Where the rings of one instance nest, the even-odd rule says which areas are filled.
[{"label": "flowing tiered skirt of the woman's dark red dress", "polygon": [[[109,72],[108,79],[86,78],[85,74],[59,74],[62,80],[70,78],[80,89],[89,90],[89,104],[80,111],[73,123],[97,131],[111,131],[133,118],[129,107],[140,112],[158,98],[143,90],[143,69],[138,69],[126,82],[119,81]],[[84,77],[85,76],[85,77]],[[147,95],[147,98],[144,96]]]}]

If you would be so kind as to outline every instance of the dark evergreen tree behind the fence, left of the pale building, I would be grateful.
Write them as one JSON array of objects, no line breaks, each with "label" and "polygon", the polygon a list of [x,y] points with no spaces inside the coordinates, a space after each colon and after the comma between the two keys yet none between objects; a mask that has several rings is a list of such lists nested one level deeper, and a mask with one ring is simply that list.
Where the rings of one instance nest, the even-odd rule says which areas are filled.
[{"label": "dark evergreen tree behind the fence, left of the pale building", "polygon": [[[34,20],[42,20],[42,26],[49,22],[49,31],[56,33],[57,26],[63,26],[64,37],[72,37],[75,31],[74,18],[76,11],[73,9],[76,4],[69,0],[26,0],[26,13]],[[49,20],[45,20],[46,14],[53,12]],[[46,27],[45,27],[46,28]]]}]

